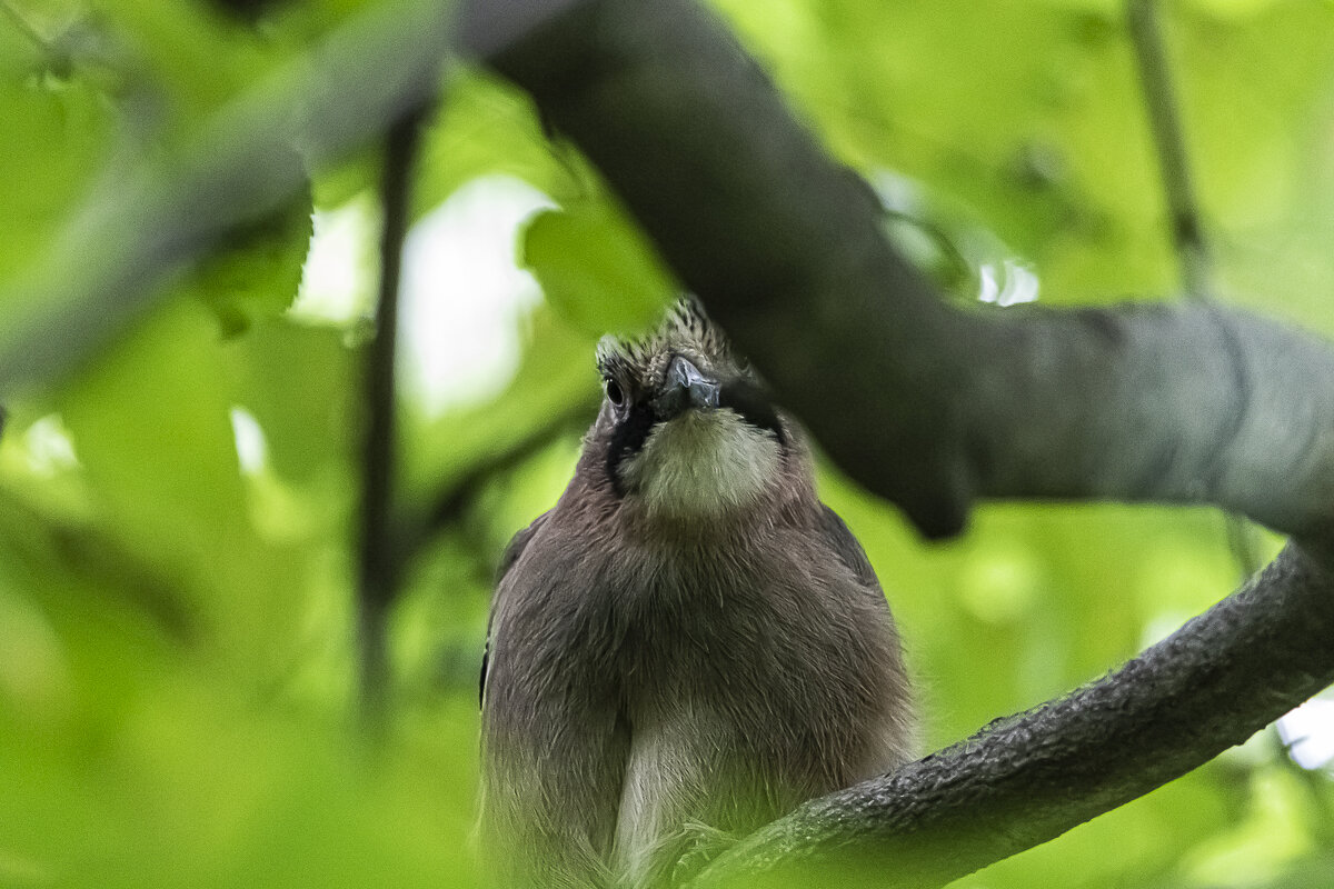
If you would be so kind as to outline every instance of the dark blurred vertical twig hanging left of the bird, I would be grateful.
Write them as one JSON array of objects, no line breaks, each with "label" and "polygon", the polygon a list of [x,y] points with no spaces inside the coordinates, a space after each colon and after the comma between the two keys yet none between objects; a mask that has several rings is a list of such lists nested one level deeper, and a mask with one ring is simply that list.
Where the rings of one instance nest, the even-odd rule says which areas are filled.
[{"label": "dark blurred vertical twig hanging left of the bird", "polygon": [[399,585],[394,548],[394,481],[396,474],[396,391],[399,277],[403,239],[411,209],[412,169],[420,144],[422,109],[395,123],[386,140],[380,200],[380,295],[375,311],[375,341],[367,360],[367,425],[362,478],[360,577],[358,632],[360,642],[360,709],[372,734],[387,728],[390,662],[386,618]]}]

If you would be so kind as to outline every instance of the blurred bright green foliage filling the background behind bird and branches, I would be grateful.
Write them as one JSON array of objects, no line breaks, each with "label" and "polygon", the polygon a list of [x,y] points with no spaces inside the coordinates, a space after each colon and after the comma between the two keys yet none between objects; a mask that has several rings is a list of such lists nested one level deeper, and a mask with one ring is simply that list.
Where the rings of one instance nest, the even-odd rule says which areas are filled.
[{"label": "blurred bright green foliage filling the background behind bird and branches", "polygon": [[[289,0],[251,21],[207,3],[0,0],[0,283],[363,5]],[[1173,299],[1118,3],[718,7],[960,299],[1006,263],[1049,304]],[[1165,17],[1226,299],[1334,335],[1334,5],[1181,0]],[[439,415],[402,405],[390,740],[368,749],[350,716],[367,321],[288,312],[309,213],[364,200],[368,153],[320,169],[305,199],[175,279],[129,336],[8,405],[0,885],[475,882],[490,573],[568,477],[578,433],[558,420],[590,416],[598,335],[642,324],[672,285],[596,175],[503,84],[451,81],[423,157],[418,215],[487,175],[559,209],[515,241],[547,301],[522,324],[508,387]],[[0,323],[15,311],[0,305]],[[260,431],[260,457],[239,453],[243,427]],[[1101,674],[1238,580],[1209,510],[988,505],[966,537],[927,546],[832,470],[822,485],[896,609],[927,746]],[[960,885],[1326,886],[1331,812],[1330,782],[1269,730]]]}]

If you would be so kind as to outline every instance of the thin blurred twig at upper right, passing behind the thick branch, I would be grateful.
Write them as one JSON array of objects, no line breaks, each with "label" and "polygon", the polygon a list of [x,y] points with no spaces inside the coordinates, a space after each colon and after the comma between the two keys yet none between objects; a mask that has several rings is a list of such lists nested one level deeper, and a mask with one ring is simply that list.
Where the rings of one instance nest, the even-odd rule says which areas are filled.
[{"label": "thin blurred twig at upper right, passing behind the thick branch", "polygon": [[[1186,153],[1179,103],[1173,87],[1157,0],[1130,0],[1130,39],[1135,47],[1145,105],[1158,149],[1163,196],[1171,215],[1173,245],[1181,269],[1181,283],[1193,300],[1210,300],[1217,293],[1213,253],[1199,212],[1199,201]],[[1226,516],[1227,546],[1242,577],[1250,577],[1263,564],[1255,529],[1237,513]]]}]

